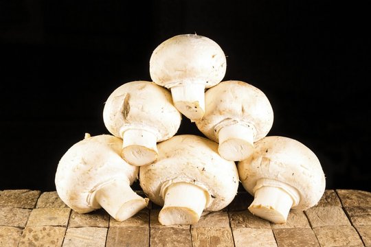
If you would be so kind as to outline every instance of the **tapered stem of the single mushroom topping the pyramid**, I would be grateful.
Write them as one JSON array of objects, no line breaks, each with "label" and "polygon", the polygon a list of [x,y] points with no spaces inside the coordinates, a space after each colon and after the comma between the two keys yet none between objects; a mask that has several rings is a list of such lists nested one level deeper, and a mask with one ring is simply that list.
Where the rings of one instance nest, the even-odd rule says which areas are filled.
[{"label": "tapered stem of the single mushroom topping the pyramid", "polygon": [[170,88],[172,101],[179,112],[191,121],[201,119],[205,114],[205,84],[184,82]]}]

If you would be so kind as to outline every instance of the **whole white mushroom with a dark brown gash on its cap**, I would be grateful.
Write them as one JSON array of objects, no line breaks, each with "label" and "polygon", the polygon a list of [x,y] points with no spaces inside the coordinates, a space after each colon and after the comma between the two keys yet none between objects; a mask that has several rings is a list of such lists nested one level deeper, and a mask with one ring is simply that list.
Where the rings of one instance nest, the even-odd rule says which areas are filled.
[{"label": "whole white mushroom with a dark brown gash on its cap", "polygon": [[157,142],[179,129],[181,113],[168,90],[154,82],[127,82],[109,95],[103,109],[106,128],[122,143],[122,158],[148,165],[157,158]]}]

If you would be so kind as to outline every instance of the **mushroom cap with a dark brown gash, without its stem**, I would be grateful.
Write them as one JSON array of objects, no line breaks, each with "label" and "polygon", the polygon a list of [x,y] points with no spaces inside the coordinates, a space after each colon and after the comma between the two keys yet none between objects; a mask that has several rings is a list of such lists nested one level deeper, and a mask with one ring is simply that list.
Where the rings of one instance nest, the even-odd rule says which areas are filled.
[{"label": "mushroom cap with a dark brown gash, without its stem", "polygon": [[181,113],[172,104],[170,91],[154,82],[127,82],[109,95],[103,109],[106,128],[115,137],[122,137],[125,128],[150,128],[157,141],[177,133]]}]

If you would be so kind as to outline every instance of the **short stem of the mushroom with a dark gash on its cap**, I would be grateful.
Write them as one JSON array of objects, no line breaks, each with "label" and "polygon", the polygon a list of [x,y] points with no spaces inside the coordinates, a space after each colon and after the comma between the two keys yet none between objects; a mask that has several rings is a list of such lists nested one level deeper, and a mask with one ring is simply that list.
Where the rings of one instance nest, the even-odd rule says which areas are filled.
[{"label": "short stem of the mushroom with a dark gash on its cap", "polygon": [[145,129],[128,129],[122,134],[122,158],[131,165],[149,165],[156,160],[157,137]]}]

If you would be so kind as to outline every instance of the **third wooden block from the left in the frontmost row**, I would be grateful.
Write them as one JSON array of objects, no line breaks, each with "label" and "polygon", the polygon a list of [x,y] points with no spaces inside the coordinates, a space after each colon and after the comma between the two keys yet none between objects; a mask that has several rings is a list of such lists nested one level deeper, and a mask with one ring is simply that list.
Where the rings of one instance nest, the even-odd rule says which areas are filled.
[{"label": "third wooden block from the left in the frontmost row", "polygon": [[104,227],[67,228],[63,247],[104,247],[107,230]]}]

